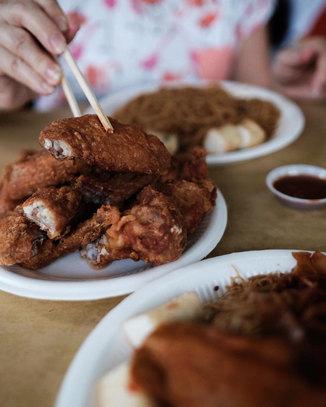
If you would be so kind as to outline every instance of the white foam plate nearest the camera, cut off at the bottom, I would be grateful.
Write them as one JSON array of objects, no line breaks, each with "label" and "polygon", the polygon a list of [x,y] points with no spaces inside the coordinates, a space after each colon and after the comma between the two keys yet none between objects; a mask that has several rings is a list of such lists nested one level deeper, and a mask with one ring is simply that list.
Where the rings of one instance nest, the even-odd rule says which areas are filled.
[{"label": "white foam plate nearest the camera, cut off at the bottom", "polygon": [[[94,389],[98,379],[132,354],[121,323],[148,311],[185,291],[197,291],[204,303],[225,292],[230,277],[273,271],[288,272],[296,261],[297,250],[261,250],[227,254],[175,270],[131,294],[110,311],[94,328],[74,357],[62,382],[55,407],[94,407]],[[214,291],[215,286],[219,290]],[[121,406],[122,407],[122,406]]]}]

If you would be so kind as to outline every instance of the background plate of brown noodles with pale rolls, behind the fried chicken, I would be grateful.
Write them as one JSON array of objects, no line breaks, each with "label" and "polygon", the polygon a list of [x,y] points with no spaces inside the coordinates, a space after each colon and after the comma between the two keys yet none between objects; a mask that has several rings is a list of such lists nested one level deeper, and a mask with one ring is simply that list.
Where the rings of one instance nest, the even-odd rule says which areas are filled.
[{"label": "background plate of brown noodles with pale rolls, behind the fried chicken", "polygon": [[202,145],[210,165],[278,151],[305,123],[301,109],[281,94],[231,81],[140,85],[109,94],[101,105],[108,116],[158,136],[171,153]]}]

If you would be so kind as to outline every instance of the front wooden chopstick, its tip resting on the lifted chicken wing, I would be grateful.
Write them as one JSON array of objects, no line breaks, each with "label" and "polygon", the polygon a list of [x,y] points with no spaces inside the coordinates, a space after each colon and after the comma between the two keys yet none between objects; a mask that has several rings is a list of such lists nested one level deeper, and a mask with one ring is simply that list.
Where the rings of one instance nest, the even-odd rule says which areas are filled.
[{"label": "front wooden chopstick, its tip resting on the lifted chicken wing", "polygon": [[[77,79],[77,82],[79,83],[85,96],[87,97],[88,101],[90,102],[90,105],[92,106],[92,108],[94,109],[98,118],[100,119],[103,127],[105,128],[105,131],[109,131],[110,133],[113,133],[113,127],[112,127],[111,123],[109,122],[109,119],[103,112],[101,105],[98,103],[98,100],[97,100],[96,96],[94,95],[94,92],[90,88],[90,85],[86,81],[84,75],[79,70],[77,63],[74,60],[74,57],[71,55],[68,47],[66,48],[65,51],[63,51],[62,55],[66,59],[70,69],[72,70],[72,73],[74,74],[74,76]],[[68,103],[69,103],[69,101],[68,101]],[[81,116],[81,114],[80,114],[80,116]]]}]

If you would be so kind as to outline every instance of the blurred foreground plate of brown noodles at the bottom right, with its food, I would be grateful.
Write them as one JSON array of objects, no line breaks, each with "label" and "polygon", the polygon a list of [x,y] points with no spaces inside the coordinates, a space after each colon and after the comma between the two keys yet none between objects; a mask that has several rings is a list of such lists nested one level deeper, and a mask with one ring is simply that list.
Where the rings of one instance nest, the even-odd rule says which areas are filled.
[{"label": "blurred foreground plate of brown noodles at the bottom right, with its food", "polygon": [[[320,252],[311,254],[311,252],[299,253],[298,250],[261,250],[227,254],[202,260],[176,270],[168,276],[163,276],[158,280],[150,282],[118,304],[118,306],[102,319],[92,333],[90,333],[66,373],[57,397],[56,407],[70,407],[72,405],[74,405],[74,407],[90,407],[95,405],[98,407],[111,407],[116,405],[156,406],[156,403],[150,403],[146,397],[144,399],[137,394],[139,383],[135,384],[135,382],[127,381],[126,375],[128,369],[125,367],[129,366],[131,356],[134,352],[137,352],[140,346],[144,346],[144,343],[147,343],[148,346],[153,343],[155,344],[155,341],[147,341],[148,335],[153,333],[153,331],[154,334],[157,333],[157,335],[159,335],[160,326],[162,326],[163,323],[182,323],[183,326],[175,325],[176,329],[172,330],[172,332],[170,330],[169,335],[176,335],[177,330],[188,329],[184,326],[185,321],[194,324],[193,321],[198,322],[199,320],[201,324],[206,324],[206,327],[203,328],[198,328],[199,324],[197,324],[196,326],[199,330],[210,330],[210,327],[213,328],[213,326],[216,326],[220,330],[218,335],[221,337],[221,341],[219,339],[218,344],[222,344],[221,360],[224,365],[221,365],[221,369],[215,368],[215,371],[217,376],[219,375],[219,371],[222,372],[220,376],[218,376],[219,380],[224,380],[225,378],[225,380],[228,380],[228,374],[233,372],[230,376],[231,385],[227,382],[224,386],[224,389],[228,388],[230,390],[228,399],[230,397],[232,398],[232,392],[238,392],[241,389],[241,386],[239,389],[239,386],[235,385],[235,383],[238,383],[237,374],[240,374],[239,380],[243,381],[243,379],[241,379],[241,377],[244,377],[243,373],[247,372],[245,373],[246,376],[247,374],[251,375],[256,372],[256,376],[258,377],[256,377],[256,380],[250,382],[249,388],[252,389],[252,394],[255,394],[253,389],[256,389],[256,385],[254,383],[258,383],[257,392],[262,397],[259,399],[260,401],[264,401],[264,396],[261,395],[260,390],[264,393],[265,389],[265,396],[267,395],[267,397],[271,399],[273,396],[276,396],[278,400],[280,400],[281,397],[281,393],[278,392],[284,390],[284,394],[287,397],[291,394],[291,396],[286,399],[289,401],[289,404],[286,403],[286,405],[299,405],[290,403],[290,399],[293,397],[293,394],[295,394],[295,391],[292,387],[292,392],[289,392],[286,385],[280,383],[282,381],[282,379],[280,379],[280,370],[277,370],[274,375],[271,374],[273,371],[273,362],[271,362],[271,360],[276,354],[276,358],[278,359],[276,363],[285,364],[284,369],[281,370],[284,372],[284,370],[288,368],[287,360],[289,358],[286,357],[284,359],[285,361],[283,361],[282,357],[278,356],[278,351],[276,350],[278,348],[282,351],[284,350],[282,347],[284,340],[287,341],[287,346],[289,346],[290,349],[294,349],[298,343],[300,343],[302,335],[307,335],[306,337],[311,340],[313,335],[317,335],[319,329],[325,327],[325,319],[320,320],[324,322],[321,322],[319,326],[316,324],[316,320],[314,319],[315,314],[313,313],[315,305],[317,303],[322,305],[325,301],[325,272],[326,257]],[[313,296],[308,295],[309,293],[311,294],[313,290],[316,290]],[[324,294],[321,295],[321,293]],[[298,309],[299,298],[300,309]],[[203,305],[205,306],[203,307]],[[203,313],[206,312],[203,311],[203,308],[210,312],[210,319],[206,317],[206,322],[200,319]],[[319,307],[318,309],[320,309],[321,313],[322,308]],[[296,322],[291,317],[293,312],[296,314]],[[282,316],[284,316],[284,318]],[[214,319],[212,319],[213,317]],[[164,325],[162,328],[163,327]],[[177,349],[179,349],[180,353],[186,353],[187,374],[184,374],[182,377],[187,387],[188,380],[190,380],[189,378],[194,371],[195,374],[197,374],[198,372],[204,372],[206,369],[201,365],[201,368],[197,370],[194,368],[194,371],[192,370],[193,366],[197,363],[195,361],[196,355],[194,352],[189,352],[189,350],[193,346],[196,346],[197,352],[199,352],[199,349],[203,349],[203,352],[206,352],[209,344],[208,347],[203,346],[203,348],[201,348],[196,345],[197,342],[193,341],[190,342],[188,346],[184,344],[182,348],[178,348],[170,343],[170,346],[166,348],[164,347],[163,340],[164,335],[168,337],[168,333],[162,333],[162,330],[160,332],[163,336],[161,337],[162,339],[158,339],[159,342],[156,342],[159,345],[162,344],[162,346],[156,348],[158,352],[157,363],[153,362],[150,364],[149,362],[149,364],[146,365],[147,370],[149,369],[153,373],[150,378],[148,377],[147,384],[155,383],[158,377],[165,377],[166,381],[169,381],[165,387],[165,392],[167,393],[168,390],[171,391],[171,389],[173,389],[173,381],[177,378],[177,375],[155,375],[155,368],[159,366],[159,363],[161,363],[163,359],[164,361],[162,363],[165,363],[164,369],[167,369],[168,366],[170,366],[170,368],[176,368],[174,361],[168,362],[164,354],[173,353],[175,350],[178,353]],[[275,335],[276,333],[278,337],[281,338],[282,343],[277,343],[277,346],[274,348],[273,344],[269,341],[273,341],[271,335]],[[191,335],[194,337],[195,334],[197,334],[197,332],[193,330]],[[239,336],[236,337],[236,340],[231,338],[231,341],[228,342],[229,339],[228,337],[224,337],[224,334]],[[324,338],[325,331],[324,334],[320,335]],[[320,335],[319,340],[321,340]],[[212,335],[210,335],[210,337],[212,337]],[[186,341],[187,338],[187,335],[183,335],[179,340]],[[247,346],[249,346],[247,342],[248,338],[249,344],[250,340],[262,340],[261,346],[258,346],[258,348],[255,342],[254,349],[260,349],[261,352],[262,346],[265,346],[265,354],[267,352],[269,355],[266,359],[263,359],[265,362],[261,363],[261,361],[259,361],[261,354],[259,355],[259,350],[257,351],[257,358],[260,365],[259,375],[257,374],[259,369],[257,370],[255,365],[252,370],[248,369],[248,365],[250,363],[254,364],[255,362],[255,354],[253,353],[252,346],[251,350],[248,350],[249,353],[246,353],[247,359],[245,359],[245,368],[243,365],[241,369],[236,368],[236,363],[238,363],[236,355],[234,359],[225,366],[225,363],[228,361],[225,361],[223,357],[225,357],[226,354],[232,353],[230,348],[229,353],[225,352],[225,345],[229,343],[229,345],[231,345],[230,347],[240,345],[243,348],[247,348]],[[212,348],[210,349],[212,350]],[[215,349],[219,352],[219,346]],[[288,348],[286,349],[287,354]],[[280,354],[281,353],[282,352],[280,352]],[[148,355],[149,353],[143,352],[142,355],[146,356],[146,354]],[[248,354],[251,355],[249,358]],[[152,355],[155,358],[155,354]],[[178,357],[179,355],[175,354],[174,360],[178,359]],[[206,363],[205,366],[207,366],[209,365],[207,361],[216,361],[216,357],[219,357],[219,354],[212,355],[212,358],[206,354],[206,357],[201,359],[201,361],[199,360],[199,363],[203,365]],[[191,361],[188,363],[187,360],[190,359]],[[135,359],[133,359],[133,363],[135,363]],[[184,362],[180,361],[180,363]],[[211,362],[211,364],[213,364],[213,366],[219,366],[219,364],[215,362]],[[265,369],[266,371],[263,372],[261,369]],[[146,373],[147,370],[143,368],[142,372]],[[135,370],[133,370],[133,372],[134,371]],[[212,369],[210,371],[212,372]],[[239,373],[237,373],[237,371]],[[228,372],[228,374],[225,372]],[[296,374],[297,370],[294,370],[294,376],[291,376],[293,375],[292,369],[287,376],[287,378],[293,377],[293,381],[291,381],[292,386],[294,386],[295,383],[298,384],[298,382],[296,382],[298,379],[295,376]],[[269,379],[266,379],[266,377]],[[249,380],[250,379],[252,378],[250,377]],[[299,379],[299,387],[302,389],[304,383],[302,377]],[[265,382],[262,385],[264,380]],[[267,388],[266,380],[271,383],[269,388]],[[208,382],[209,380],[206,381],[203,377],[197,378],[197,381],[193,381],[195,387],[201,386],[201,389],[199,389],[197,393],[195,392],[197,396],[201,397],[203,394],[211,391],[212,388],[217,388],[211,386],[210,390],[208,390],[205,388]],[[127,383],[129,383],[129,386],[127,386]],[[132,383],[135,385],[132,385]],[[179,389],[182,388],[180,383],[181,382],[179,382]],[[283,386],[285,386],[285,388],[281,390]],[[174,387],[175,391],[178,390],[177,387],[178,385]],[[193,392],[192,387],[188,386],[189,394]],[[202,387],[205,388],[204,391]],[[221,387],[219,388],[221,389]],[[248,388],[248,386],[243,386],[242,391],[245,392],[246,388]],[[136,393],[130,394],[131,392]],[[216,396],[217,394],[215,394],[214,400],[217,400]],[[240,396],[238,396],[236,400],[236,403],[230,403],[230,405],[265,405],[265,403],[249,402],[246,404],[245,401],[247,399]],[[243,403],[239,404],[239,400],[243,400]],[[272,402],[268,404],[279,405],[278,403],[273,404]],[[175,403],[173,405],[180,404]],[[207,402],[202,404],[184,403],[182,405],[217,404]],[[218,403],[218,405],[224,405],[224,403]],[[319,406],[324,404],[317,403],[315,405]]]}]

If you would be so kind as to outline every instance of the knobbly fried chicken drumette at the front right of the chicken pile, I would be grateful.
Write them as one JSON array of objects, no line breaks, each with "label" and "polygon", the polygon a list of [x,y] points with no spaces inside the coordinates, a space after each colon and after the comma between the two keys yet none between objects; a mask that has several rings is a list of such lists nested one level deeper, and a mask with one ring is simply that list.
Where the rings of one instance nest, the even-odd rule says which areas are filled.
[{"label": "knobbly fried chicken drumette at the front right of the chicken pile", "polygon": [[179,208],[147,186],[139,204],[126,210],[98,240],[81,252],[93,265],[131,258],[160,265],[177,260],[186,245],[186,228]]}]

